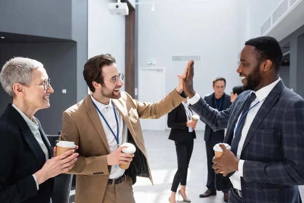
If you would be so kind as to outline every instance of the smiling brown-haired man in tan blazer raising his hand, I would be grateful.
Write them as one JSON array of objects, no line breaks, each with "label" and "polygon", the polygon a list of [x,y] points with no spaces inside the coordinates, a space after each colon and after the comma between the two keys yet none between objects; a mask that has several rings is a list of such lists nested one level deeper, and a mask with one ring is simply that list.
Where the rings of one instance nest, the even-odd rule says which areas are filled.
[{"label": "smiling brown-haired man in tan blazer raising his hand", "polygon": [[[178,76],[176,89],[157,103],[141,103],[120,91],[124,75],[110,54],[89,59],[83,74],[92,93],[63,113],[60,138],[79,146],[68,172],[77,174],[75,203],[133,203],[136,176],[153,184],[140,118],[158,119],[177,107],[186,97],[182,79]],[[126,142],[135,145],[134,155],[121,152]],[[123,170],[119,163],[130,167]]]}]

